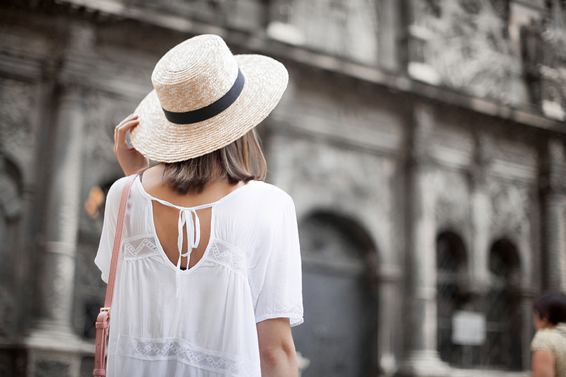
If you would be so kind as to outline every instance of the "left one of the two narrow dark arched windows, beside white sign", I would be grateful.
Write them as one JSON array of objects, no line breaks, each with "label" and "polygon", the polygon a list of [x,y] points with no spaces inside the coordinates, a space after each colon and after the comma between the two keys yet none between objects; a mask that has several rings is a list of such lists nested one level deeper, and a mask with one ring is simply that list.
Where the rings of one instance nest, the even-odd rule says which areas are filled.
[{"label": "left one of the two narrow dark arched windows, beside white sign", "polygon": [[467,276],[467,251],[462,238],[451,230],[439,232],[436,241],[437,348],[444,362],[463,367],[472,364],[468,349],[453,343],[452,318],[470,310],[472,293]]}]

